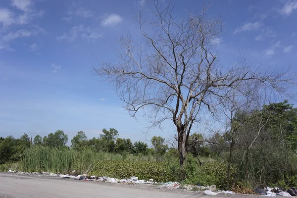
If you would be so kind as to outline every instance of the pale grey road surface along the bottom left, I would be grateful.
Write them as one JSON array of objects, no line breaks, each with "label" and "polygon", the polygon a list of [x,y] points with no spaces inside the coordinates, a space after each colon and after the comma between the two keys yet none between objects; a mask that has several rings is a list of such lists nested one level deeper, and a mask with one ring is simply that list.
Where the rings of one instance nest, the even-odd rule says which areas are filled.
[{"label": "pale grey road surface along the bottom left", "polygon": [[[126,185],[0,173],[0,198],[202,198]],[[218,198],[218,197],[217,197]]]}]

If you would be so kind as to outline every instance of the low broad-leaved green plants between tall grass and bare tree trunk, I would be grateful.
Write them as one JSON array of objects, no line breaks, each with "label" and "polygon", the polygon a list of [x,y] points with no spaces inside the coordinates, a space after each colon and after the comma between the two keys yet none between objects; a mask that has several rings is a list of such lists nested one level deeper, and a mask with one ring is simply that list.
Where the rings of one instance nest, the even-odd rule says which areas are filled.
[{"label": "low broad-leaved green plants between tall grass and bare tree trunk", "polygon": [[96,165],[96,171],[91,174],[115,178],[154,179],[158,182],[172,181],[172,173],[164,162],[151,161],[110,161],[102,160]]}]

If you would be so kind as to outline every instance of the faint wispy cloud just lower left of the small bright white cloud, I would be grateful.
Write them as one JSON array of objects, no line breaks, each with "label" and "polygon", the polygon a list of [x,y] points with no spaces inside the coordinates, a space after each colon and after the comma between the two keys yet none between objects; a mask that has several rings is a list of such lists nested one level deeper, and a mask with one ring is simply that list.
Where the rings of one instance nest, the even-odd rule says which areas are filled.
[{"label": "faint wispy cloud just lower left of the small bright white cloud", "polygon": [[96,40],[102,37],[102,34],[97,29],[91,27],[84,27],[83,25],[73,26],[69,33],[64,33],[62,36],[56,37],[58,41],[68,40],[74,41],[78,35],[81,35],[82,39]]}]

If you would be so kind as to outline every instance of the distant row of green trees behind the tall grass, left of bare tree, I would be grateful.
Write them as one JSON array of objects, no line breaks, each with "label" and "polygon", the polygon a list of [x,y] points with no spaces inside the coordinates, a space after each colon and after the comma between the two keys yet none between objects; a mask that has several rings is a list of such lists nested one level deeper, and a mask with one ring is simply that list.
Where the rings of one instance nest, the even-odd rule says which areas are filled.
[{"label": "distant row of green trees behind the tall grass, left of bare tree", "polygon": [[109,130],[103,129],[102,134],[98,138],[88,139],[83,131],[79,131],[71,140],[70,148],[66,146],[68,135],[62,130],[50,133],[48,136],[41,137],[37,135],[30,140],[27,134],[15,139],[12,136],[0,138],[0,164],[5,162],[18,161],[22,152],[26,148],[35,145],[51,147],[51,148],[68,148],[82,150],[91,148],[94,151],[111,152],[118,154],[134,154],[134,155],[155,155],[162,156],[169,148],[165,144],[165,139],[160,136],[154,136],[151,139],[153,148],[148,148],[148,144],[138,141],[134,144],[130,139],[118,138],[118,131],[114,128]]}]

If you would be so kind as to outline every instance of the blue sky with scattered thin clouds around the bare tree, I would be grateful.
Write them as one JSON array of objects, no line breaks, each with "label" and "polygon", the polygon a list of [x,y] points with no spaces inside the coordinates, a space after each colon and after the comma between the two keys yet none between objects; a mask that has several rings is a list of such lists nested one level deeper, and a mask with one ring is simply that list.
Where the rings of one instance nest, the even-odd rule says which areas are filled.
[{"label": "blue sky with scattered thin clouds around the bare tree", "polygon": [[[139,38],[133,13],[143,2],[1,0],[0,136],[45,136],[61,129],[70,141],[78,131],[92,138],[114,127],[132,141],[172,137],[169,122],[143,135],[146,119],[131,118],[113,88],[91,71],[94,57],[116,58],[121,34]],[[173,2],[178,17],[202,6],[201,0]],[[251,65],[292,65],[297,71],[297,0],[213,2],[208,16],[224,21],[216,47],[221,63],[230,64],[240,50]]]}]

